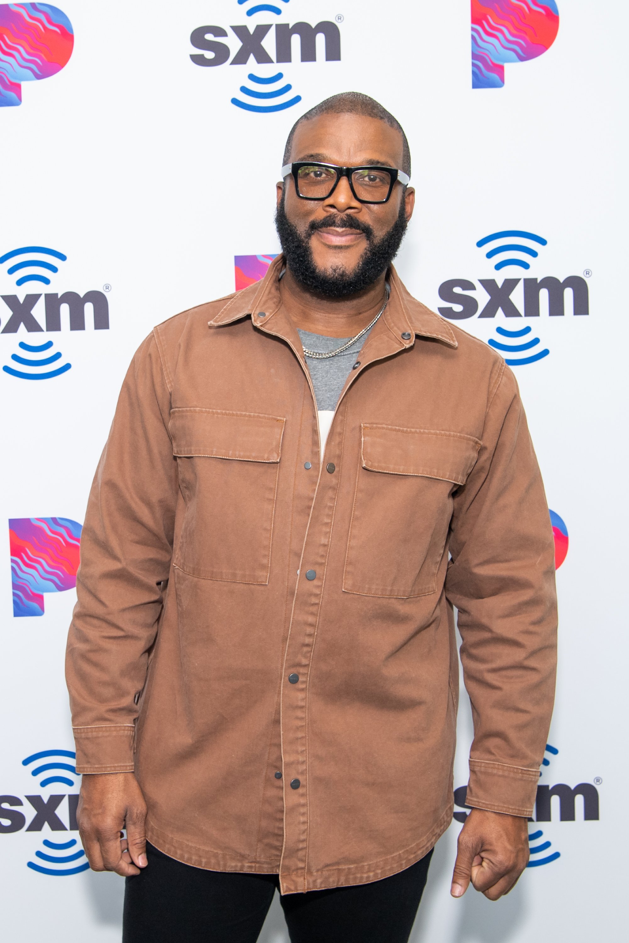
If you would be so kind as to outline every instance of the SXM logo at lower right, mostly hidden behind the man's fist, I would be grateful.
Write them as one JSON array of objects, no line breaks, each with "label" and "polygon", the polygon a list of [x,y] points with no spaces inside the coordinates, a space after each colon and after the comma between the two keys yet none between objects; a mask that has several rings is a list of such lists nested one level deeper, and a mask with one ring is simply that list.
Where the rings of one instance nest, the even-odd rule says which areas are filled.
[{"label": "SXM logo at lower right, mostly hidden behind the man's fist", "polygon": [[[551,746],[550,743],[546,744],[545,755],[541,764],[541,772],[539,773],[540,778],[543,777],[544,773],[551,765],[552,757],[557,756],[558,753],[559,751],[556,747]],[[600,780],[597,779],[595,782],[600,782]],[[538,822],[552,821],[553,799],[558,800],[559,821],[575,821],[577,796],[580,796],[583,800],[583,820],[598,821],[599,792],[596,786],[592,786],[591,783],[579,783],[573,788],[566,783],[557,783],[555,786],[546,786],[545,784],[538,786],[538,794],[535,802],[535,817],[529,819],[529,821],[534,821],[536,825]],[[467,786],[458,786],[458,788],[455,789],[455,806],[459,809],[469,809],[470,806],[466,804],[466,797]],[[468,818],[468,815],[468,812],[455,812],[454,818],[458,822],[464,822],[465,819]],[[542,838],[544,838],[542,829],[536,828],[533,829],[532,832],[529,832],[529,852],[531,857],[526,866],[527,868],[538,868],[540,865],[550,865],[553,861],[556,861],[557,858],[561,857],[561,852],[551,850],[553,843],[548,839],[540,841]],[[538,842],[538,844],[535,844],[536,842]],[[545,852],[549,853],[546,854]]]}]

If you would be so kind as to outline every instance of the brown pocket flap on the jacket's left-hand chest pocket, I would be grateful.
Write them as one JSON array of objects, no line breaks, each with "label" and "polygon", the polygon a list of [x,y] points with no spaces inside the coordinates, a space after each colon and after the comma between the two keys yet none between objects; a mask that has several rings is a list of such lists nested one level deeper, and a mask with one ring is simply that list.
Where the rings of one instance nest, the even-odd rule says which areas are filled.
[{"label": "brown pocket flap on the jacket's left-hand chest pocket", "polygon": [[175,408],[169,423],[173,454],[278,462],[285,422],[277,416],[259,413]]}]

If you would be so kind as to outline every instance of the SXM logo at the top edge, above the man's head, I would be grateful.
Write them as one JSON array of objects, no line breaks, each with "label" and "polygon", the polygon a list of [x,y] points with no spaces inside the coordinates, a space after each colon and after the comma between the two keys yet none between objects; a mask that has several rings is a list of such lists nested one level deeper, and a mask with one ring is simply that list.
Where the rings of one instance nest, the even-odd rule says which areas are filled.
[{"label": "SXM logo at the top edge, above the man's head", "polygon": [[[281,0],[285,5],[290,0]],[[249,4],[245,12],[247,17],[265,16],[273,13],[281,16],[282,8],[274,3],[258,4],[255,0],[238,0],[238,6]],[[342,16],[338,16],[339,22]],[[230,48],[226,42],[229,34],[223,26],[198,26],[192,30],[190,42],[198,53],[190,55],[194,65],[215,67],[229,63],[229,65],[248,66],[249,60],[254,59],[258,66],[292,62],[293,39],[299,40],[299,54],[302,62],[317,61],[317,37],[323,38],[323,49],[327,62],[340,60],[340,32],[339,26],[329,20],[322,20],[316,25],[309,23],[274,24],[275,58],[262,44],[273,29],[273,23],[256,23],[250,29],[248,25],[230,26],[229,29],[240,41],[236,50]],[[320,51],[322,51],[320,46]],[[234,53],[232,57],[232,52]],[[258,70],[259,71],[259,70]],[[284,111],[301,102],[302,96],[295,94],[290,82],[285,81],[284,73],[247,74],[249,85],[240,85],[239,93],[231,99],[232,105],[244,111],[254,111],[257,114],[268,114],[273,111]],[[239,95],[241,97],[239,97]]]}]

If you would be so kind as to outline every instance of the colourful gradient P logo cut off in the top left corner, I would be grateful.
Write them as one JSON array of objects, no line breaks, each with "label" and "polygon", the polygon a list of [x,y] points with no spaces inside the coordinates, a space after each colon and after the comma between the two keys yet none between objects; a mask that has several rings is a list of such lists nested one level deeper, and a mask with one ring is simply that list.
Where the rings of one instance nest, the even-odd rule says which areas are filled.
[{"label": "colourful gradient P logo cut off in the top left corner", "polygon": [[22,82],[60,72],[73,46],[72,24],[57,7],[0,4],[0,108],[22,104]]}]

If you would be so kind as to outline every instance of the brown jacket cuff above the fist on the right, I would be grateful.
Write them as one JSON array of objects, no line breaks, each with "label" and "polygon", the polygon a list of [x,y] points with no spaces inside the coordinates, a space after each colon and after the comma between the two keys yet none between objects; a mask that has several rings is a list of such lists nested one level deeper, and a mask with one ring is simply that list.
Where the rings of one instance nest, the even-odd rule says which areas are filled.
[{"label": "brown jacket cuff above the fist on the right", "polygon": [[470,759],[466,805],[529,819],[538,792],[539,770],[492,760]]}]

